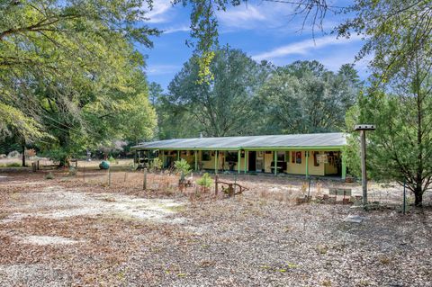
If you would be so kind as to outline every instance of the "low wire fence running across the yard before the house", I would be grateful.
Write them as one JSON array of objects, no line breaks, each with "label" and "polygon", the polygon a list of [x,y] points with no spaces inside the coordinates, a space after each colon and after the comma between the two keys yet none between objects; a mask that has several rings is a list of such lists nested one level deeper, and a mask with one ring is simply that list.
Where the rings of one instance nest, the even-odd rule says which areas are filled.
[{"label": "low wire fence running across the yard before the house", "polygon": [[[76,178],[87,184],[100,184],[115,188],[142,188],[163,193],[196,193],[196,180],[203,172],[187,175],[192,184],[179,185],[180,175],[174,170],[96,170],[78,168]],[[214,180],[214,174],[211,175]],[[362,186],[358,183],[346,183],[338,178],[309,177],[295,175],[238,175],[220,173],[220,181],[240,184],[247,188],[247,194],[257,198],[274,199],[284,202],[320,202],[328,204],[362,204]],[[214,192],[214,182],[211,187]],[[378,206],[401,208],[403,204],[403,186],[399,184],[368,183],[368,202]],[[414,203],[414,194],[406,189],[406,206]],[[432,206],[432,193],[423,195],[423,205]]]}]

